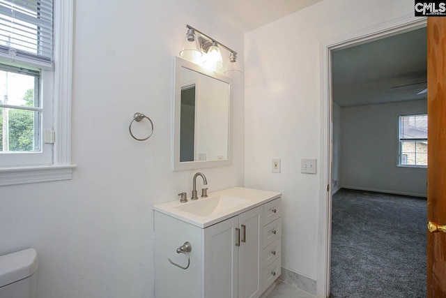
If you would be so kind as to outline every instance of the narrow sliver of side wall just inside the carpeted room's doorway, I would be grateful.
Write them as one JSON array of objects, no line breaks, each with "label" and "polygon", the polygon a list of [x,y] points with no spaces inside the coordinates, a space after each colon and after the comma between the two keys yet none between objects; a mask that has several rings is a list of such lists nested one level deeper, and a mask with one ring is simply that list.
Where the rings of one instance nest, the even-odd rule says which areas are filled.
[{"label": "narrow sliver of side wall just inside the carpeted room's doorway", "polygon": [[342,127],[341,127],[341,107],[333,103],[332,110],[332,193],[339,191],[342,185],[341,165],[342,165]]}]

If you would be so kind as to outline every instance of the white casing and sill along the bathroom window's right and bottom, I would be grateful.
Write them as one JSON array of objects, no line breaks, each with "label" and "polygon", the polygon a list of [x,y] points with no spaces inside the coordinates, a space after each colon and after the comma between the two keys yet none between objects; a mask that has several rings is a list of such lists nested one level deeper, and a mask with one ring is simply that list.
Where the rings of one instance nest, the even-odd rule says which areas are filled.
[{"label": "white casing and sill along the bathroom window's right and bottom", "polygon": [[73,0],[54,1],[53,164],[0,168],[0,186],[72,179],[76,167],[70,150],[73,12]]}]

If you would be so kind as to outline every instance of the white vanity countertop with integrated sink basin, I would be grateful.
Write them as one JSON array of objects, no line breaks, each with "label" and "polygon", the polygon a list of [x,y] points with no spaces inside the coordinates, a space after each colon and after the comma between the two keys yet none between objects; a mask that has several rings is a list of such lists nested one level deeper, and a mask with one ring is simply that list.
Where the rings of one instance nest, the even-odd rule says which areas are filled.
[{"label": "white vanity countertop with integrated sink basin", "polygon": [[199,228],[207,228],[281,196],[282,193],[272,191],[234,187],[209,193],[208,198],[194,201],[189,198],[185,203],[175,200],[156,204],[153,210]]}]

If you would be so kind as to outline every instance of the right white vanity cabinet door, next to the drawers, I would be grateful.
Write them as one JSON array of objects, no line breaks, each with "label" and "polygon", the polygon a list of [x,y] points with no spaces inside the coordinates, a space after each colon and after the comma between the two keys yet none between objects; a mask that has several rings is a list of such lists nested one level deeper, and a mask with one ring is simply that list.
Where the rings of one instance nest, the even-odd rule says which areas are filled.
[{"label": "right white vanity cabinet door, next to the drawers", "polygon": [[255,298],[261,295],[262,214],[263,207],[260,206],[239,216],[241,239],[238,251],[239,298]]}]

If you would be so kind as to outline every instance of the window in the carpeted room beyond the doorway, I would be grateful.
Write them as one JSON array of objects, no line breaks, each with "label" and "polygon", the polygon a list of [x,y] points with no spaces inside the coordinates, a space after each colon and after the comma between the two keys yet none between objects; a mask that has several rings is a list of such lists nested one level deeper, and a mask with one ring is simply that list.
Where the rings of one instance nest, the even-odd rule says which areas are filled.
[{"label": "window in the carpeted room beyond the doorway", "polygon": [[399,165],[427,167],[427,115],[399,117]]}]

